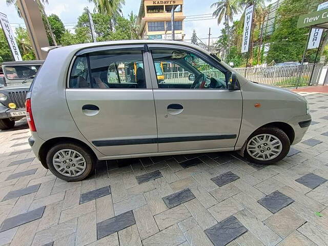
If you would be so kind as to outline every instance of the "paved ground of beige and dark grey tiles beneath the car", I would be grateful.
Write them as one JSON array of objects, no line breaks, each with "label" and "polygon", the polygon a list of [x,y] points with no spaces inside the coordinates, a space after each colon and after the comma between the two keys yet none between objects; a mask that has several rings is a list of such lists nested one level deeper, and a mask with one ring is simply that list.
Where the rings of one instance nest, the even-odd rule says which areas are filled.
[{"label": "paved ground of beige and dark grey tiles beneath the car", "polygon": [[233,152],[113,160],[67,183],[17,122],[0,131],[0,245],[328,245],[328,93],[300,93],[316,123],[268,167]]}]

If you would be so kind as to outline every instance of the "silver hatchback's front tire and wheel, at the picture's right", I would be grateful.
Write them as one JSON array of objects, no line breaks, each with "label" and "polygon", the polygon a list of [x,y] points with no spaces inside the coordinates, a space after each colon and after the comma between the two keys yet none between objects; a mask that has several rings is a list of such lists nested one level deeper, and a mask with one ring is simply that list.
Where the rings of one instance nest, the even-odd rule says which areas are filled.
[{"label": "silver hatchback's front tire and wheel, at the picture's right", "polygon": [[[270,137],[270,140],[264,141],[264,139],[261,138],[262,134],[267,134],[267,137]],[[258,138],[258,140],[260,140],[259,144],[257,144],[255,140],[253,140],[253,137],[255,136],[259,136]],[[277,139],[280,141],[280,145]],[[272,145],[272,142],[274,142],[275,144]],[[253,144],[255,145],[253,146]],[[267,144],[267,146],[264,146],[265,144]],[[259,146],[261,146],[261,148],[259,148]],[[277,127],[262,127],[256,130],[247,139],[246,148],[244,150],[244,157],[253,163],[270,165],[284,158],[288,154],[290,147],[291,147],[290,140],[288,136],[284,133],[284,131],[282,131]],[[259,151],[264,152],[263,155]],[[254,157],[251,156],[249,152],[253,154]],[[255,156],[256,152],[258,153],[257,158]],[[267,154],[266,156],[267,157],[269,156],[269,158],[264,158],[264,154]]]}]

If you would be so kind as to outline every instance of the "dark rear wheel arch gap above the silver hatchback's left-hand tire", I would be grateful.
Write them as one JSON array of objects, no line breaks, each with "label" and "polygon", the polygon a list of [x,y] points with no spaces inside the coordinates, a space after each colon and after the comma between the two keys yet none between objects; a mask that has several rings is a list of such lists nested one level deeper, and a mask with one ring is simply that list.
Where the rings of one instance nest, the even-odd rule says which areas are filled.
[{"label": "dark rear wheel arch gap above the silver hatchback's left-hand tire", "polygon": [[42,163],[42,166],[44,166],[46,169],[48,169],[48,165],[46,161],[48,151],[50,150],[51,147],[60,143],[64,143],[64,144],[70,143],[70,144],[77,144],[83,146],[90,152],[91,155],[93,155],[94,158],[97,158],[94,151],[85,142],[71,137],[55,137],[44,142],[44,144],[40,147],[38,152],[39,160]]}]

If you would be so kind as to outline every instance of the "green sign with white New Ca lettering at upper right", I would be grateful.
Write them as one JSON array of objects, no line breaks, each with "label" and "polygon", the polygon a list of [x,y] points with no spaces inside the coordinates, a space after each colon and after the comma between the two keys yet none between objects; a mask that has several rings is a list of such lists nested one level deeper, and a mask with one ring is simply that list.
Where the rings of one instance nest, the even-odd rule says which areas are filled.
[{"label": "green sign with white New Ca lettering at upper right", "polygon": [[310,14],[301,15],[298,18],[297,27],[317,27],[327,28],[328,9],[319,10]]}]

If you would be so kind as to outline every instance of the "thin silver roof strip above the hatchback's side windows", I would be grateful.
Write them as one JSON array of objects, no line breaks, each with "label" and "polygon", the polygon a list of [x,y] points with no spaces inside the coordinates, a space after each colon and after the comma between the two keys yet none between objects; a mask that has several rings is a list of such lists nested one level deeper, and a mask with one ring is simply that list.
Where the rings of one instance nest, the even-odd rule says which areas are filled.
[{"label": "thin silver roof strip above the hatchback's side windows", "polygon": [[77,52],[78,50],[86,49],[86,48],[111,46],[111,45],[133,45],[133,44],[135,44],[135,45],[140,45],[140,44],[181,45],[181,46],[186,46],[186,47],[191,47],[191,48],[197,49],[203,53],[210,54],[210,52],[208,52],[207,50],[205,50],[197,45],[193,45],[193,44],[187,43],[187,42],[173,41],[173,40],[148,40],[148,39],[116,40],[116,41],[107,41],[107,42],[70,45],[70,46],[64,46],[64,47],[52,49],[49,52],[56,52],[56,50],[61,50],[61,49],[65,49],[66,51],[76,51]]}]

